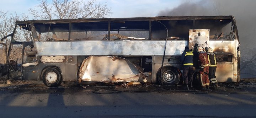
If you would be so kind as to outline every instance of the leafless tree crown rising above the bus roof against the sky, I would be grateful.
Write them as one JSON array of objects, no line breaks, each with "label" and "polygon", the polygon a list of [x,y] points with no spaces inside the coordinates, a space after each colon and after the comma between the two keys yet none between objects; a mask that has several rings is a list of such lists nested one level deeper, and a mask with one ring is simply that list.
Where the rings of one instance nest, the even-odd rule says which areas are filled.
[{"label": "leafless tree crown rising above the bus roof against the sky", "polygon": [[34,19],[70,19],[70,18],[103,18],[112,14],[107,2],[101,4],[95,0],[88,2],[76,0],[40,0],[36,8],[29,9]]}]

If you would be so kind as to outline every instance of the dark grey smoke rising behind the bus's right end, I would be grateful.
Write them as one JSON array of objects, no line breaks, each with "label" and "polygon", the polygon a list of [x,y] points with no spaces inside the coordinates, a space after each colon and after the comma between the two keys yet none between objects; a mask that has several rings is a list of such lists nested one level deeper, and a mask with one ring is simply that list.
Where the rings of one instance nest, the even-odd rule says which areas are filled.
[{"label": "dark grey smoke rising behind the bus's right end", "polygon": [[[175,8],[159,12],[159,16],[200,16],[233,15],[238,27],[241,66],[250,62],[241,70],[241,77],[256,77],[256,0],[200,0],[184,1]],[[254,50],[254,52],[248,51]],[[246,65],[247,66],[247,65]]]}]

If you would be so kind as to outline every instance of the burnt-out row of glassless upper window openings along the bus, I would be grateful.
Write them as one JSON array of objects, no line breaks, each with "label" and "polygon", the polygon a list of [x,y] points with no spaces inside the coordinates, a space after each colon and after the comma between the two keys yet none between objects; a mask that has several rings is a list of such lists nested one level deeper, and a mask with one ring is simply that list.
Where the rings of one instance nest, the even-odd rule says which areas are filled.
[{"label": "burnt-out row of glassless upper window openings along the bus", "polygon": [[[188,39],[190,29],[209,29],[212,40],[232,40],[235,35],[230,17],[169,18],[171,20],[166,20],[167,18],[158,20],[157,17],[135,20],[132,18],[110,18],[112,21],[96,19],[75,23],[54,22],[53,20],[54,23],[38,21],[39,23],[35,22],[34,26],[40,41],[158,40],[166,39],[166,28],[170,40]],[[26,27],[29,26],[27,23],[18,25],[29,30],[29,27]]]}]

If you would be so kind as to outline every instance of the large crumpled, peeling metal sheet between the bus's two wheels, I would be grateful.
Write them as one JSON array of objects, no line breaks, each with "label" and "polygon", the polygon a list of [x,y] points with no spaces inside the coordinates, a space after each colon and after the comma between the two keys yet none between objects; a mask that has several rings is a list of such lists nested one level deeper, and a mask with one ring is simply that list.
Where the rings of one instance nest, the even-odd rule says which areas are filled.
[{"label": "large crumpled, peeling metal sheet between the bus's two wheels", "polygon": [[145,77],[150,74],[143,74],[130,61],[120,57],[90,56],[79,69],[79,79],[82,81],[145,82]]}]

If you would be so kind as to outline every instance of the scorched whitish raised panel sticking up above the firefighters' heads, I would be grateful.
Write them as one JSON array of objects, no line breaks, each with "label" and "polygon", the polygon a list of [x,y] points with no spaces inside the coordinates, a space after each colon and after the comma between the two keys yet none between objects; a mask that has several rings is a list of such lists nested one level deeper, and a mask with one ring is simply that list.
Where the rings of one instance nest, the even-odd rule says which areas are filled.
[{"label": "scorched whitish raised panel sticking up above the firefighters' heads", "polygon": [[189,48],[194,49],[194,44],[198,44],[203,48],[209,47],[209,37],[210,37],[210,30],[205,29],[196,29],[196,30],[189,30]]}]

